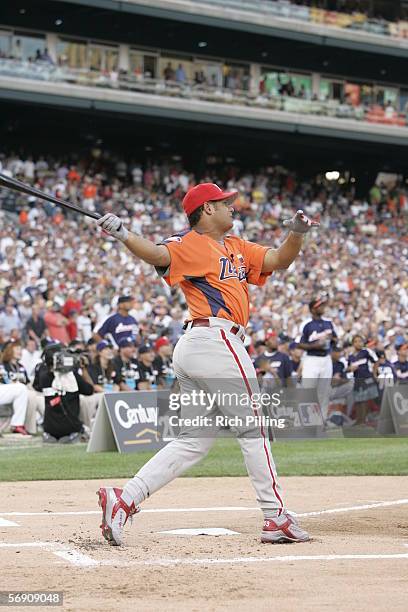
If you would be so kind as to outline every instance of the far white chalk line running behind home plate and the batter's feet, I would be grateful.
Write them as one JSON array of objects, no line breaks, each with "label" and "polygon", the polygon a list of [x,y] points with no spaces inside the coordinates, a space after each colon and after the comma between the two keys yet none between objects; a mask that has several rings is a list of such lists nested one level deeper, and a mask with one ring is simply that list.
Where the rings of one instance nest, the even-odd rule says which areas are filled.
[{"label": "far white chalk line running behind home plate and the batter's feet", "polygon": [[[408,504],[408,499],[395,499],[391,501],[376,502],[373,504],[363,504],[358,506],[348,506],[341,508],[328,508],[326,510],[316,510],[313,512],[292,512],[294,516],[305,518],[320,516],[323,514],[336,514],[342,512],[356,512],[358,510],[372,510],[373,508],[386,508],[389,506],[401,506]],[[174,512],[254,512],[260,511],[258,507],[251,506],[214,506],[204,508],[146,508],[142,509],[142,513],[163,513],[171,514]],[[100,514],[100,510],[67,510],[61,512],[0,512],[0,516],[84,516],[84,515],[96,515]]]}]

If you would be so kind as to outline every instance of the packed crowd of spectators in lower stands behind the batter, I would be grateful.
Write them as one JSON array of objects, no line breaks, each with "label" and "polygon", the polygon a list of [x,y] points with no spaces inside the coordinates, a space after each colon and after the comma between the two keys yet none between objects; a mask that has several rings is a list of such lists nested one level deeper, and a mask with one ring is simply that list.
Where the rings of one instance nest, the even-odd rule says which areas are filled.
[{"label": "packed crowd of spectators in lower stands behind the batter", "polygon": [[[408,193],[402,180],[378,181],[361,199],[351,180],[304,180],[281,166],[256,174],[208,167],[196,176],[179,162],[142,167],[101,150],[75,161],[3,154],[0,172],[87,210],[112,211],[155,242],[185,228],[181,199],[200,181],[237,189],[232,231],[271,247],[283,238],[282,220],[303,209],[320,219],[320,230],[288,270],[251,292],[246,346],[260,377],[297,383],[302,324],[311,300],[325,292],[325,316],[337,333],[333,360],[346,358],[341,375],[352,378],[353,354],[368,350],[373,364],[379,358],[376,378],[385,364],[385,378],[408,380]],[[35,433],[42,423],[41,392],[52,384],[36,365],[50,342],[69,345],[81,360],[81,374],[67,383],[76,406],[81,395],[80,431],[92,425],[104,391],[172,384],[172,348],[188,316],[177,288],[170,290],[152,267],[78,214],[2,189],[0,215],[0,390],[7,387],[0,404],[13,404],[13,431]],[[276,350],[288,356],[289,369],[268,365]],[[45,404],[53,398],[45,397]],[[78,428],[73,437],[56,429],[55,435],[44,429],[48,441],[79,435]]]}]

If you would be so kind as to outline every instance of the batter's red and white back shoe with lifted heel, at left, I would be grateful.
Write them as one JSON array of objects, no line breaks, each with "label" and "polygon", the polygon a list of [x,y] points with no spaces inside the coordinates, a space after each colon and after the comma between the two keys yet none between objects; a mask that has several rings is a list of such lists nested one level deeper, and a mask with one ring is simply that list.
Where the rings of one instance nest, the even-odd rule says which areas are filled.
[{"label": "batter's red and white back shoe with lifted heel, at left", "polygon": [[96,493],[99,497],[99,506],[102,508],[102,535],[112,546],[121,546],[123,543],[123,528],[128,518],[132,517],[140,508],[134,503],[129,507],[123,499],[122,489],[117,487],[101,487]]}]

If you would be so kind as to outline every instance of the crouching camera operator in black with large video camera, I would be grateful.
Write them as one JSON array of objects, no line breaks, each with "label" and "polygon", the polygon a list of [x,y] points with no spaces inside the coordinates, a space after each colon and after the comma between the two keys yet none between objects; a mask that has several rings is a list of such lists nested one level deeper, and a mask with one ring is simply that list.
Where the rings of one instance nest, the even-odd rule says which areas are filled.
[{"label": "crouching camera operator in black with large video camera", "polygon": [[34,389],[45,398],[44,441],[72,443],[80,440],[84,426],[79,419],[79,394],[92,395],[93,386],[79,374],[77,355],[63,344],[45,347],[36,368]]}]

